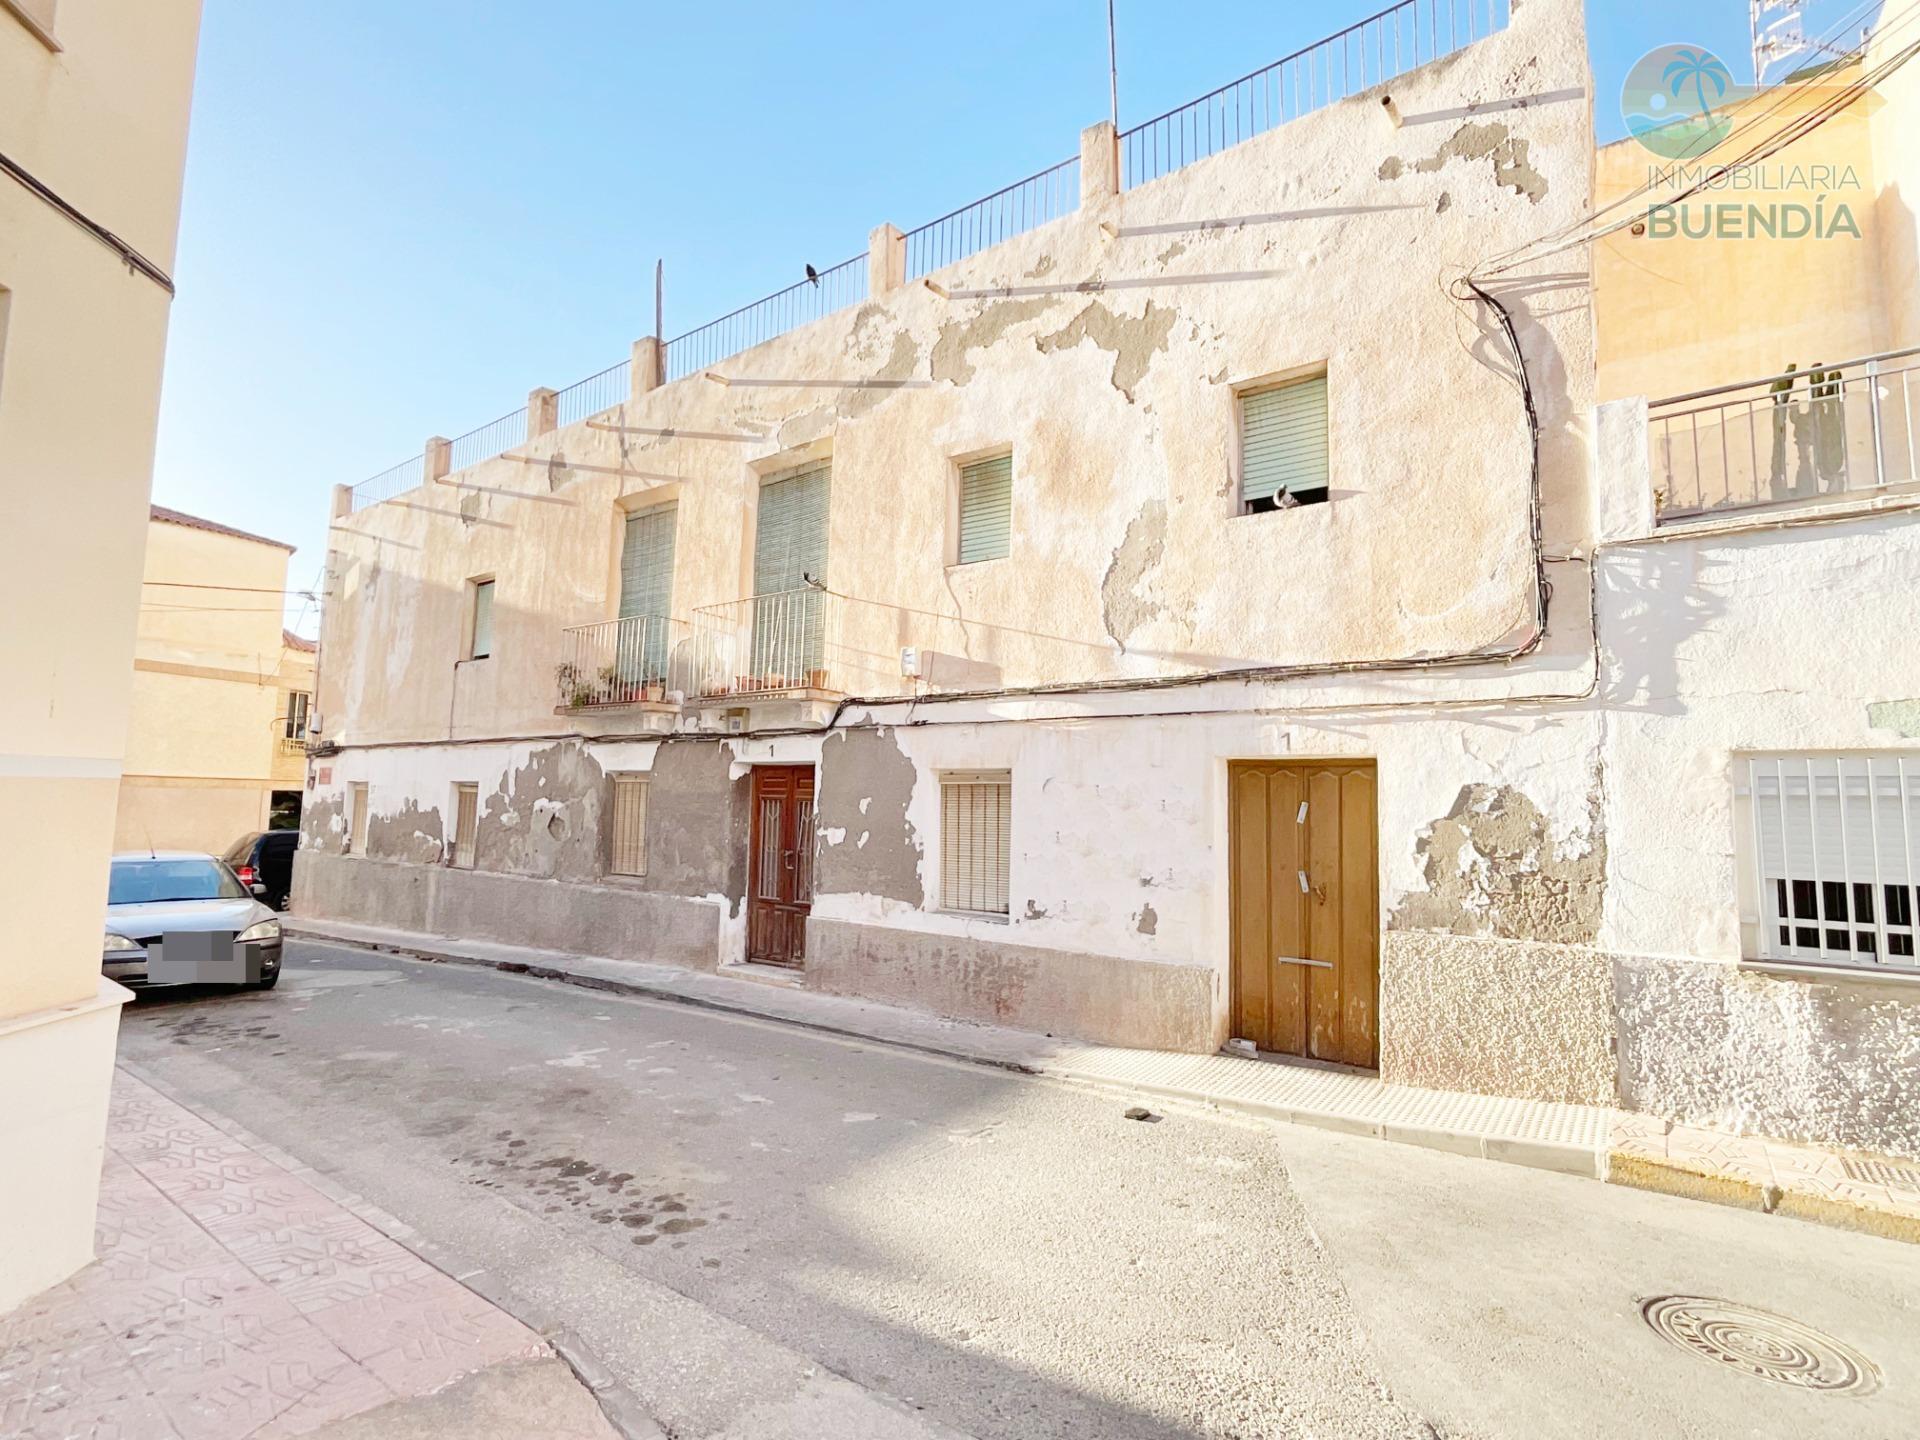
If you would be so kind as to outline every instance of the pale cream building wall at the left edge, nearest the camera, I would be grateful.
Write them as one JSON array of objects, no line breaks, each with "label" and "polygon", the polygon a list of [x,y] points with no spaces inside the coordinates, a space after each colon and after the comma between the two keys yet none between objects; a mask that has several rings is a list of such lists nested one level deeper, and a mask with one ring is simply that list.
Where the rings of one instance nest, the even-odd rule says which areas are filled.
[{"label": "pale cream building wall at the left edge, nearest the camera", "polygon": [[0,1313],[92,1260],[100,975],[200,0],[0,0]]}]

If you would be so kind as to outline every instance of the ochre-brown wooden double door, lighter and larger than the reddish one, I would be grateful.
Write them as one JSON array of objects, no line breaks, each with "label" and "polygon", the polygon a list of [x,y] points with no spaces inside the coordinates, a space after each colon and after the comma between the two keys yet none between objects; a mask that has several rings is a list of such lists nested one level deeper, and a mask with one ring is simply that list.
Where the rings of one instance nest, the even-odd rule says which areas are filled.
[{"label": "ochre-brown wooden double door, lighter and larger than the reddish one", "polygon": [[1244,762],[1227,789],[1235,1037],[1379,1064],[1373,764]]}]

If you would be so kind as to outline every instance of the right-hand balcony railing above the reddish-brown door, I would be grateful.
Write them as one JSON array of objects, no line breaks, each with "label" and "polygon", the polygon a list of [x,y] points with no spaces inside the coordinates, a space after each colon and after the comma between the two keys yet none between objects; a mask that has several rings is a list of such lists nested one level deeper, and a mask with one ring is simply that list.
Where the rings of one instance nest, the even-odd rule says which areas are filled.
[{"label": "right-hand balcony railing above the reddish-brown door", "polygon": [[824,589],[708,605],[693,612],[685,664],[689,701],[791,691],[841,693],[839,603]]}]

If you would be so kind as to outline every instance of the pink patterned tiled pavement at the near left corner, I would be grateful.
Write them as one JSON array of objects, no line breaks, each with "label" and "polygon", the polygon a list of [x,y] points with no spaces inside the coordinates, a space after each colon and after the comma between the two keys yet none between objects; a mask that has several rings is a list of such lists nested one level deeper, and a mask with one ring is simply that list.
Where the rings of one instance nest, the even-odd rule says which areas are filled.
[{"label": "pink patterned tiled pavement at the near left corner", "polygon": [[275,1440],[551,1354],[125,1071],[98,1256],[0,1319],[0,1436]]}]

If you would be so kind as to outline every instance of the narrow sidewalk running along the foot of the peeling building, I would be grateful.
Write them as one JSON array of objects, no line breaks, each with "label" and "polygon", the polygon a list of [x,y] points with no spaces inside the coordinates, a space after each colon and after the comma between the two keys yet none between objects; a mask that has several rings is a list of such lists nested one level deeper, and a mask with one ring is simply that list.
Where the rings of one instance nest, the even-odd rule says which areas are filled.
[{"label": "narrow sidewalk running along the foot of the peeling building", "polygon": [[1419,1091],[1309,1064],[1081,1044],[820,995],[762,966],[714,973],[294,916],[286,929],[1920,1242],[1920,1162],[1724,1135],[1605,1106]]}]

